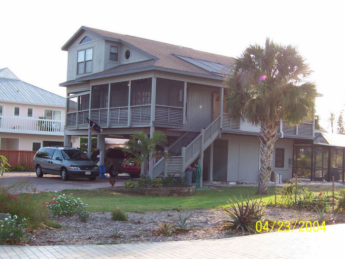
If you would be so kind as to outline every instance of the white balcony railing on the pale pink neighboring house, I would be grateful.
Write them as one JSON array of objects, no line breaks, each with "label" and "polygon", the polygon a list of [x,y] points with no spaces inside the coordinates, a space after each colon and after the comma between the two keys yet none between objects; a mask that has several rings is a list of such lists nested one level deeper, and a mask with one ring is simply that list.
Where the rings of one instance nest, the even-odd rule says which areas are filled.
[{"label": "white balcony railing on the pale pink neighboring house", "polygon": [[0,132],[64,135],[62,120],[0,116]]}]

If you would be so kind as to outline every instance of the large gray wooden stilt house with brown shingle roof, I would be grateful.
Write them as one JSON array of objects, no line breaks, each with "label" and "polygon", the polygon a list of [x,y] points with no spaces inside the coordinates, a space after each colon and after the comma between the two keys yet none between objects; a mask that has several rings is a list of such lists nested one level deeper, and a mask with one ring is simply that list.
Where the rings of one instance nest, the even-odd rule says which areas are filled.
[{"label": "large gray wooden stilt house with brown shingle roof", "polygon": [[[229,119],[224,109],[231,57],[84,26],[62,50],[68,51],[67,81],[60,84],[68,98],[66,145],[70,136],[93,135],[102,154],[105,138],[159,130],[172,159],[150,163],[151,177],[180,176],[197,162],[204,181],[258,181],[260,128]],[[90,130],[87,118],[101,133]],[[294,147],[311,145],[314,127],[280,124],[273,170],[289,179]]]}]

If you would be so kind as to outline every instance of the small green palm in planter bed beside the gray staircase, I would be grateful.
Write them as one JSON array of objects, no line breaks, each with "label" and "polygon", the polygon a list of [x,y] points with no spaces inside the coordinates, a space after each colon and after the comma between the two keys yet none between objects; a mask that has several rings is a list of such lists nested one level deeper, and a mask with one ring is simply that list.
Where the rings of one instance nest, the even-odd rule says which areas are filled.
[{"label": "small green palm in planter bed beside the gray staircase", "polygon": [[158,145],[162,146],[165,143],[168,143],[167,136],[160,131],[154,131],[152,138],[143,132],[135,132],[131,139],[125,142],[123,150],[134,156],[136,163],[142,165],[141,175],[147,176],[150,159],[169,157],[168,152],[157,149]]}]

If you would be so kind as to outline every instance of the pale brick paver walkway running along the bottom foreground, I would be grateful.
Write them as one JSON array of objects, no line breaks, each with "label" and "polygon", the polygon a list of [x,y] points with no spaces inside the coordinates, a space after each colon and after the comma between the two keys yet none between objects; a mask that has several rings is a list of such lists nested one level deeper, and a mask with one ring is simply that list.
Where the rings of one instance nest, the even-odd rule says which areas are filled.
[{"label": "pale brick paver walkway running along the bottom foreground", "polygon": [[[304,229],[305,230],[305,229]],[[216,240],[80,246],[0,246],[1,259],[344,258],[345,224]]]}]

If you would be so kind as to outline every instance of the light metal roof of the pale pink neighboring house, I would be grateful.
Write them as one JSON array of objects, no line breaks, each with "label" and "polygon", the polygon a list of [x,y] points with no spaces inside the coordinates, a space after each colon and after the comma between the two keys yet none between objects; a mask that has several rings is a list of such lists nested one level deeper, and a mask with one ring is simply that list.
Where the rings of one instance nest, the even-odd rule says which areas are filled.
[{"label": "light metal roof of the pale pink neighboring house", "polygon": [[0,69],[0,102],[65,107],[66,98],[23,82],[8,68]]}]

